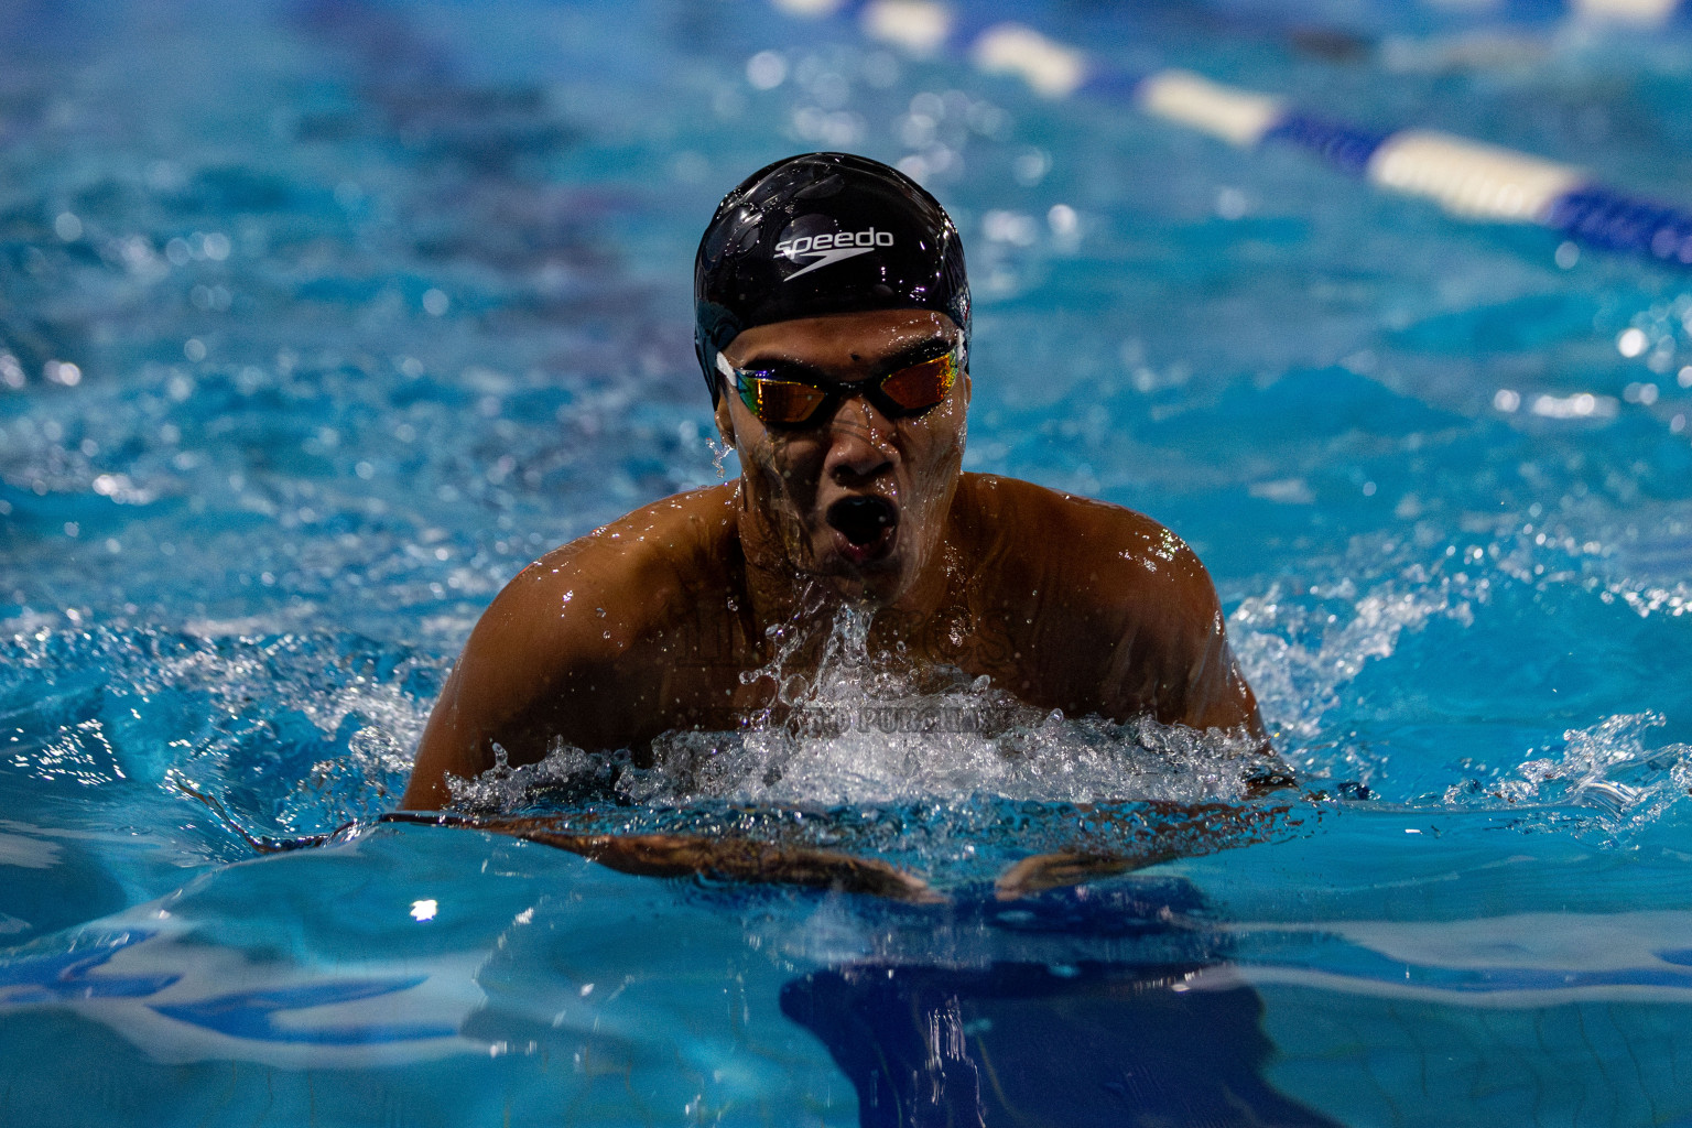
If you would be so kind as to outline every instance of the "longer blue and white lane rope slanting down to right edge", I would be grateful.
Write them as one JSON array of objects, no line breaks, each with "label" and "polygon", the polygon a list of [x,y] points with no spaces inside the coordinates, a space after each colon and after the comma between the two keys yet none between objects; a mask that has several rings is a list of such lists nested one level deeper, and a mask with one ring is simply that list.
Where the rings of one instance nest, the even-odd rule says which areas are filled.
[{"label": "longer blue and white lane rope slanting down to right edge", "polygon": [[1433,200],[1464,220],[1535,223],[1582,244],[1692,267],[1692,210],[1604,188],[1575,166],[1438,130],[1360,129],[1191,71],[1129,74],[1022,24],[971,20],[936,0],[775,2],[794,15],[856,17],[876,42],[917,56],[961,54],[1047,98],[1127,101],[1242,149],[1293,145],[1377,188]]}]

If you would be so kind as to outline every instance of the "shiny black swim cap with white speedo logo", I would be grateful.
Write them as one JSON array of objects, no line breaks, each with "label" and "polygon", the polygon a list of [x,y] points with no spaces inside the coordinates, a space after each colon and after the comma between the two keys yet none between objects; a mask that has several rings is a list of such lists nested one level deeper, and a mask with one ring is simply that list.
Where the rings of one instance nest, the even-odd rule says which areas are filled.
[{"label": "shiny black swim cap with white speedo logo", "polygon": [[915,181],[849,152],[758,169],[717,205],[694,259],[694,342],[711,402],[741,330],[860,309],[934,309],[970,337],[963,240]]}]

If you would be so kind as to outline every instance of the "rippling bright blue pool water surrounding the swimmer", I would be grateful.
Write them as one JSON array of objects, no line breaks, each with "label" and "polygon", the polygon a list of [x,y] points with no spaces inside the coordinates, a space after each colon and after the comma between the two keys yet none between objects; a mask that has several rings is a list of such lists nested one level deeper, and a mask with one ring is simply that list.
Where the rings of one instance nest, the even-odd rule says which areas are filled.
[{"label": "rippling bright blue pool water surrounding the swimmer", "polygon": [[[1692,203],[1684,27],[997,12]],[[717,480],[695,240],[819,147],[964,233],[966,467],[1186,538],[1298,797],[843,651],[838,732],[469,798],[942,903],[377,822],[499,585]],[[1692,274],[751,0],[14,3],[0,154],[0,1123],[1692,1125]],[[1239,830],[995,900],[1156,798]]]}]

